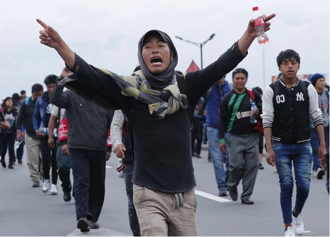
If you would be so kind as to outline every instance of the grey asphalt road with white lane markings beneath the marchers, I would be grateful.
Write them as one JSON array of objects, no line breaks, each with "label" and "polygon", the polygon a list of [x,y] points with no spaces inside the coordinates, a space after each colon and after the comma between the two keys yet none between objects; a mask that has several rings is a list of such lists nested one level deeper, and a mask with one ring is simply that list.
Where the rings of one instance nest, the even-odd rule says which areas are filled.
[{"label": "grey asphalt road with white lane markings beneath the marchers", "polygon": [[[207,162],[205,147],[201,155],[201,159],[193,158],[196,190],[215,198],[197,195],[199,236],[284,235],[278,176],[266,160],[263,160],[265,169],[258,172],[251,197],[255,204],[243,205],[240,201],[231,201],[230,197],[216,197],[213,166]],[[118,159],[114,154],[107,165],[117,167]],[[76,229],[74,200],[64,202],[61,190],[58,195],[51,196],[43,194],[41,187],[32,188],[25,158],[23,164],[16,164],[14,168],[0,167],[0,236],[132,236],[124,179],[117,177],[115,168],[106,169],[105,201],[99,218],[101,228],[86,234]],[[311,179],[309,198],[302,214],[305,230],[312,234],[304,236],[329,236],[329,195],[325,183],[325,179]],[[238,190],[240,195],[241,185]]]}]

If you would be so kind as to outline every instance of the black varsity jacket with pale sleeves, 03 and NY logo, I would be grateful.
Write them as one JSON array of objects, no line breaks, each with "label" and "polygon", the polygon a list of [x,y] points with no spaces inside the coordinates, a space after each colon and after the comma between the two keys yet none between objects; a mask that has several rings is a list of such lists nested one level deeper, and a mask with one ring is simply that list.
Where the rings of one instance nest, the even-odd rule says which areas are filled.
[{"label": "black varsity jacket with pale sleeves, 03 and NY logo", "polygon": [[263,127],[272,128],[272,139],[295,144],[310,139],[310,122],[322,124],[318,96],[312,84],[297,79],[287,87],[281,79],[270,84],[263,96]]}]

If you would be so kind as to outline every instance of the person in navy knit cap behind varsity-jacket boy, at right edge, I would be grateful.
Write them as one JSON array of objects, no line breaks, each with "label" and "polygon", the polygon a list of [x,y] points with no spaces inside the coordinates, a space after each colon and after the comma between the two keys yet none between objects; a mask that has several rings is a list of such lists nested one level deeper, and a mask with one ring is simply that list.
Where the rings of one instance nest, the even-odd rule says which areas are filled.
[{"label": "person in navy knit cap behind varsity-jacket boy, at right edge", "polygon": [[[315,87],[316,92],[318,94],[318,102],[319,108],[322,111],[323,123],[324,123],[324,136],[326,141],[326,146],[329,146],[329,91],[324,89],[325,80],[322,74],[316,73],[310,79],[311,84]],[[314,178],[322,179],[325,175],[324,169],[322,169],[319,158],[318,158],[318,148],[320,146],[319,137],[317,136],[317,132],[314,124],[311,122],[310,127],[310,145],[312,148],[312,156],[313,156],[313,166],[311,175]],[[328,147],[326,147],[328,148]]]}]

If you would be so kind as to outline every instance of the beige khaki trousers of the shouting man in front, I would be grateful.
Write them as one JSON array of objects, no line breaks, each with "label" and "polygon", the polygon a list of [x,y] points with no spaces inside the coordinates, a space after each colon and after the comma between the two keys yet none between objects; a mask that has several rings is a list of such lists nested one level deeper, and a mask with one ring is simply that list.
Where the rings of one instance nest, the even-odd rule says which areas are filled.
[{"label": "beige khaki trousers of the shouting man in front", "polygon": [[133,184],[141,236],[197,236],[195,188],[163,193]]}]

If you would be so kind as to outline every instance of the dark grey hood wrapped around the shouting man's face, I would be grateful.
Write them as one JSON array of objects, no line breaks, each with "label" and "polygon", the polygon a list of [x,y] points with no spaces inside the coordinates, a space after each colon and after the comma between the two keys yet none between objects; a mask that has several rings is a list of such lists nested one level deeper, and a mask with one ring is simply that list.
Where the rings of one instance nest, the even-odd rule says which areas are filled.
[{"label": "dark grey hood wrapped around the shouting man's face", "polygon": [[[171,48],[173,52],[173,59],[170,61],[169,66],[166,68],[166,70],[160,74],[152,74],[149,72],[147,67],[145,66],[144,60],[142,58],[142,46],[144,45],[144,40],[148,36],[152,35],[158,35],[162,37],[162,39],[168,43],[168,46]],[[141,66],[141,70],[144,74],[144,77],[149,82],[150,86],[155,89],[163,89],[166,86],[173,84],[173,81],[175,81],[175,67],[178,64],[178,53],[176,51],[176,48],[173,44],[173,41],[171,38],[164,32],[159,30],[151,30],[145,33],[141,39],[139,40],[138,44],[138,59]]]}]

